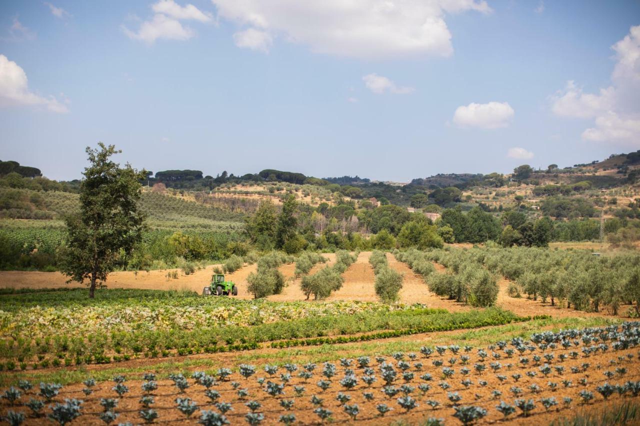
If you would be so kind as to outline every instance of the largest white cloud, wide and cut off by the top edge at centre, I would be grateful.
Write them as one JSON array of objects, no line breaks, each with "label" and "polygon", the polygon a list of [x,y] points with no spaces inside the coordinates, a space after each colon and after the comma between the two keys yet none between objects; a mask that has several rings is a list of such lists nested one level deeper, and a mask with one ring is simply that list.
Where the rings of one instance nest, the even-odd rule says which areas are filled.
[{"label": "largest white cloud, wide and cut off by the top edge at centre", "polygon": [[308,45],[314,52],[366,59],[450,56],[446,13],[492,12],[484,0],[212,0],[241,26]]}]

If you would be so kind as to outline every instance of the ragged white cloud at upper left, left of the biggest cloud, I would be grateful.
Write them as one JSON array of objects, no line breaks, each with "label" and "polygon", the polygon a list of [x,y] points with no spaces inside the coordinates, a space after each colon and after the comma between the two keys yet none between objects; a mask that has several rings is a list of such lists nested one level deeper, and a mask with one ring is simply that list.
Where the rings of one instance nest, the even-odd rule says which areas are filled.
[{"label": "ragged white cloud at upper left, left of the biggest cloud", "polygon": [[152,4],[151,8],[156,14],[152,19],[142,22],[138,31],[131,31],[126,26],[121,26],[125,35],[133,40],[141,40],[149,44],[158,39],[189,40],[195,36],[195,31],[188,26],[183,26],[180,20],[211,21],[211,16],[193,4],[180,6],[173,0],[160,0]]}]

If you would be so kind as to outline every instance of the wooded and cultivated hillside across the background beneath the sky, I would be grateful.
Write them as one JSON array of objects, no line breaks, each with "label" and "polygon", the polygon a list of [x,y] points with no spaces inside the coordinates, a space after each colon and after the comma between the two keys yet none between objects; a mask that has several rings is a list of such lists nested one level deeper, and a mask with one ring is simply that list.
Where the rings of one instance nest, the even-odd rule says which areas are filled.
[{"label": "wooded and cultivated hillside across the background beneath the sky", "polygon": [[[504,244],[533,244],[524,236],[527,224],[548,219],[545,241],[595,241],[604,235],[614,244],[632,246],[639,239],[639,158],[637,153],[612,155],[564,169],[524,165],[510,175],[440,174],[401,186],[278,170],[243,177],[223,172],[215,178],[198,170],[159,171],[142,189],[139,207],[147,230],[133,263],[153,268],[207,263],[269,248],[271,242],[260,246],[246,221],[265,201],[277,216],[290,197],[297,205],[297,244],[303,248],[408,244],[396,239],[406,223],[425,217],[423,212],[436,221],[429,231],[437,234],[436,242],[501,241],[511,226],[515,237]],[[79,182],[56,182],[16,164],[3,162],[0,176],[1,267],[55,269],[65,239],[63,219],[79,205]],[[602,231],[600,217],[606,221]],[[390,233],[384,243],[378,242],[383,230]]]}]

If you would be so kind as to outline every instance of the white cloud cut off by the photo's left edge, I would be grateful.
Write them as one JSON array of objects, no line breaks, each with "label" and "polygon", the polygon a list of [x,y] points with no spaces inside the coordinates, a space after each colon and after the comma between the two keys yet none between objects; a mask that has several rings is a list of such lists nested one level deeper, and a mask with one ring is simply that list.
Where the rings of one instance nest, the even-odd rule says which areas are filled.
[{"label": "white cloud cut off by the photo's left edge", "polygon": [[45,98],[29,91],[27,74],[15,62],[0,54],[0,106],[44,106],[54,113],[67,113],[54,97]]}]

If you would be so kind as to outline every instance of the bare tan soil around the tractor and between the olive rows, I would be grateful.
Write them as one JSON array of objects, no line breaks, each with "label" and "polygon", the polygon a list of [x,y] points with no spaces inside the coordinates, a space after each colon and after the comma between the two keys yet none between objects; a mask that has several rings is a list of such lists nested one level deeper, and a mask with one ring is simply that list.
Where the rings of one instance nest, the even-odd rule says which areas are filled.
[{"label": "bare tan soil around the tractor and between the olive rows", "polygon": [[[317,264],[310,271],[314,274],[326,265],[335,262],[335,254],[325,253],[328,259],[325,264]],[[377,301],[378,297],[374,289],[375,276],[369,264],[370,251],[363,251],[358,256],[356,262],[351,264],[344,272],[344,285],[337,292],[334,292],[327,300],[355,300],[355,301]],[[389,266],[404,276],[403,288],[400,292],[401,303],[426,304],[429,308],[444,308],[451,312],[471,309],[456,301],[451,301],[443,297],[436,296],[429,291],[422,276],[415,274],[406,264],[398,262],[396,258],[387,253]],[[163,271],[150,272],[113,272],[109,275],[107,285],[109,288],[141,288],[154,290],[193,290],[202,292],[202,288],[209,283],[213,269],[220,265],[209,265],[204,269],[184,275],[180,269],[168,269]],[[444,272],[444,267],[434,264],[437,272]],[[247,291],[247,277],[251,272],[255,272],[257,266],[246,265],[236,272],[227,274],[227,279],[232,280],[238,287],[239,299],[252,299],[253,296]],[[300,290],[301,278],[294,279],[295,264],[280,266],[280,271],[284,274],[287,285],[282,294],[269,296],[270,301],[303,301],[305,294]],[[178,272],[177,279],[166,278],[168,272]],[[77,283],[67,284],[67,277],[60,272],[23,272],[23,271],[0,271],[0,287],[9,288],[58,288],[58,287],[81,287]],[[549,303],[542,303],[540,300],[532,301],[526,297],[510,297],[507,294],[509,281],[499,280],[500,287],[497,306],[510,310],[518,315],[552,315],[554,317],[593,317],[611,316],[607,312],[588,313],[570,309],[551,306]],[[627,312],[627,308],[620,309],[620,313]],[[622,318],[622,317],[621,317]]]}]

